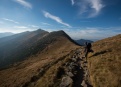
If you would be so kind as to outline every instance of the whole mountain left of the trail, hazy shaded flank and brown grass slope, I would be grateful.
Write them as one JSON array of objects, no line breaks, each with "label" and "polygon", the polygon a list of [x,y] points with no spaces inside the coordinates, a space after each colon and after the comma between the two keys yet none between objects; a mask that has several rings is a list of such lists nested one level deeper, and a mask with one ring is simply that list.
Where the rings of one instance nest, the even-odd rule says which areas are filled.
[{"label": "whole mountain left of the trail, hazy shaded flank and brown grass slope", "polygon": [[[33,79],[43,77],[50,67],[56,66],[55,64],[64,60],[72,50],[79,47],[64,31],[24,32],[2,38],[1,43],[0,48],[5,47],[4,51],[7,51],[2,57],[5,62],[2,61],[1,66],[12,65],[0,71],[0,87],[27,87],[34,81]],[[58,67],[54,69],[57,70]],[[54,74],[56,73],[52,73]]]}]

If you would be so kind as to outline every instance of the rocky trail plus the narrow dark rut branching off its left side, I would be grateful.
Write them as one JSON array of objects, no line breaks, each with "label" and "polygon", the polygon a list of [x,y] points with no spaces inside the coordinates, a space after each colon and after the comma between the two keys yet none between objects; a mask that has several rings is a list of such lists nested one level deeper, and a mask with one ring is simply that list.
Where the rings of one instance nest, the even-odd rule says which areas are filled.
[{"label": "rocky trail plus the narrow dark rut branching off its left side", "polygon": [[[60,69],[61,78],[58,86],[54,87],[93,87],[90,83],[90,75],[88,72],[87,63],[84,58],[83,48],[77,49],[68,55],[55,60],[52,64],[47,64],[39,70],[36,76],[33,76],[30,81],[26,82],[22,87],[34,87],[37,81],[47,72],[52,66],[56,66],[59,61],[66,59],[58,69]],[[55,72],[56,73],[56,72]],[[56,81],[55,81],[56,82]],[[43,87],[43,86],[40,86]],[[44,86],[50,87],[50,86]],[[51,86],[53,87],[53,86]]]}]

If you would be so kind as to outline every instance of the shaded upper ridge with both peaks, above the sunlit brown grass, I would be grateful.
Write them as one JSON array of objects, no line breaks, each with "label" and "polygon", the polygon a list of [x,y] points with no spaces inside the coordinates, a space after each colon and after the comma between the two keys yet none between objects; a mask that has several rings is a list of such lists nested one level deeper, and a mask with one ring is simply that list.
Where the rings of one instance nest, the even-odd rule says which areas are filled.
[{"label": "shaded upper ridge with both peaks, above the sunlit brown grass", "polygon": [[56,43],[61,37],[77,44],[62,30],[49,33],[38,29],[0,38],[0,67],[25,60],[41,52],[50,44]]}]

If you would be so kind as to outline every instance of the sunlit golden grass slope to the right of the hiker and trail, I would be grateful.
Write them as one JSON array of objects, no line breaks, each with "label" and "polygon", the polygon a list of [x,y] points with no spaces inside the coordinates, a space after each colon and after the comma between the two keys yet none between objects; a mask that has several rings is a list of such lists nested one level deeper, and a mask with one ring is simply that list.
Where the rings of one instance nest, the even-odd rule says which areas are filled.
[{"label": "sunlit golden grass slope to the right of the hiker and trail", "polygon": [[93,44],[88,69],[94,87],[121,87],[121,34]]}]

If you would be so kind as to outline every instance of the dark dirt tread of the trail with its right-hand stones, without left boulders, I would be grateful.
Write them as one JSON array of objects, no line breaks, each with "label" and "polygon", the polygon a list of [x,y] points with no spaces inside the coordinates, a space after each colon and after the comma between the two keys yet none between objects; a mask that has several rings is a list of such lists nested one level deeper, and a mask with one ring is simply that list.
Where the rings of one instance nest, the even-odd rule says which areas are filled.
[{"label": "dark dirt tread of the trail with its right-hand stones, without left boulders", "polygon": [[73,77],[73,87],[92,87],[89,80],[88,62],[85,61],[85,58],[83,57],[84,53],[81,51],[83,51],[83,49],[80,48],[75,52],[78,68],[76,69],[77,74]]}]

